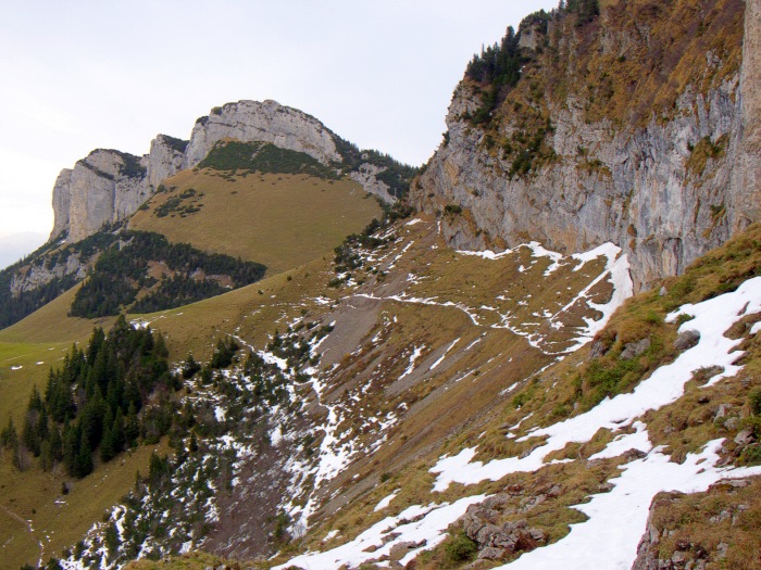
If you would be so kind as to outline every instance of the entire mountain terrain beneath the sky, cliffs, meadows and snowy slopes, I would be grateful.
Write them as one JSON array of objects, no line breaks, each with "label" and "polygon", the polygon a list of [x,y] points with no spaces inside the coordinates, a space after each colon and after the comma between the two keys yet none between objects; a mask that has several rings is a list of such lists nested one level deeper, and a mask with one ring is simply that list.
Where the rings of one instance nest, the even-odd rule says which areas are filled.
[{"label": "entire mountain terrain beneath the sky, cliffs, meadows and snowy slopes", "polygon": [[0,274],[0,559],[757,568],[760,10],[532,14],[416,176],[273,102],[96,151],[146,200]]}]

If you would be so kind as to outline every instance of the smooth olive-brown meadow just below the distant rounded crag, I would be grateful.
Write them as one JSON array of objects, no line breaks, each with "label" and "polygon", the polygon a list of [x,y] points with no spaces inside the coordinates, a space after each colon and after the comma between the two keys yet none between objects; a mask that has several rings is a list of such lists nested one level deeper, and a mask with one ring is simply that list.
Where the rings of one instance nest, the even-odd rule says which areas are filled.
[{"label": "smooth olive-brown meadow just below the distant rounded crag", "polygon": [[[350,180],[286,174],[229,177],[203,169],[185,170],[164,186],[172,190],[153,197],[130,228],[263,263],[267,275],[332,253],[346,236],[380,215],[375,200]],[[204,194],[195,202],[201,204],[200,212],[155,215],[157,207],[189,188]]]}]

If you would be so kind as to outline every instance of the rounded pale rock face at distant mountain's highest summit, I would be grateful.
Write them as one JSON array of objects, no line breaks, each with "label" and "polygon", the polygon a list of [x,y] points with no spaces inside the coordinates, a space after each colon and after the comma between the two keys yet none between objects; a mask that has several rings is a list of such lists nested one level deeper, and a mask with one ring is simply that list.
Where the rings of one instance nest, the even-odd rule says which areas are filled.
[{"label": "rounded pale rock face at distant mountain's highest summit", "polygon": [[196,122],[185,154],[185,168],[201,162],[222,139],[271,142],[309,154],[323,164],[341,162],[334,135],[316,118],[275,101],[238,101],[214,107]]}]

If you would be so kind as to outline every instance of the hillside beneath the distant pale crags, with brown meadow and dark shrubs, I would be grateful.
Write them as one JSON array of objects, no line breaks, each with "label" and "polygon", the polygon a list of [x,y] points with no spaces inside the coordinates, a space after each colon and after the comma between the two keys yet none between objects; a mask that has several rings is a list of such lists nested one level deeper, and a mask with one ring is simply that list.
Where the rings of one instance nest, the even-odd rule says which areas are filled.
[{"label": "hillside beneath the distant pale crags, with brown meadow and dark shrubs", "polygon": [[[236,144],[242,154],[229,152]],[[80,241],[50,242],[1,271],[0,327],[88,276],[74,315],[199,301],[261,278],[262,263],[273,275],[329,254],[347,233],[380,215],[376,200],[359,183],[309,155],[271,144],[257,149],[260,159],[252,162],[254,147],[220,143],[202,166],[160,185],[134,218]],[[153,236],[150,246],[146,231]],[[159,243],[164,238],[170,243]],[[198,251],[182,252],[183,243]],[[130,244],[138,246],[125,250]],[[111,253],[101,259],[105,252]],[[260,266],[254,270],[251,264]]]}]

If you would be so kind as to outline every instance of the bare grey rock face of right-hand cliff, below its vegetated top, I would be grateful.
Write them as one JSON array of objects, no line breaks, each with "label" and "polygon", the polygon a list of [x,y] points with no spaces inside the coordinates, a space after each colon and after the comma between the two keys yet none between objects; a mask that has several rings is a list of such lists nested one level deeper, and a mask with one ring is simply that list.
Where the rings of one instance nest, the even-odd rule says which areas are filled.
[{"label": "bare grey rock face of right-hand cliff, below its vegetated top", "polygon": [[[449,109],[448,137],[420,185],[413,187],[413,203],[429,213],[449,204],[466,212],[467,224],[463,216],[442,217],[441,231],[457,248],[537,240],[570,253],[612,241],[628,254],[637,289],[682,273],[699,255],[760,217],[759,3],[747,2],[745,60],[739,71],[736,62],[702,52],[702,60],[690,64],[713,80],[675,88],[668,113],[652,104],[643,111],[637,102],[631,105],[631,117],[595,117],[588,92],[569,90],[559,99],[519,83],[515,92],[531,93],[523,105],[513,106],[508,99],[492,112],[491,125],[484,125],[470,119],[482,105],[482,87],[463,80]],[[585,28],[598,34],[597,43],[587,49],[622,65],[638,46],[649,49],[647,42],[654,40],[647,23],[633,17],[634,23],[621,24],[629,5],[637,10],[636,4],[641,2],[621,3],[615,22],[610,9],[598,28]],[[564,80],[559,75],[583,54],[574,41],[583,40],[573,26],[562,26],[562,21],[550,23],[550,47],[535,59],[544,67],[522,81]],[[531,29],[533,36],[523,42],[524,49],[538,45],[536,29]],[[566,39],[556,46],[553,36]],[[560,72],[548,63],[550,49],[567,58]],[[695,53],[685,51],[683,61],[688,56]],[[634,116],[635,111],[640,115]],[[502,144],[514,144],[525,136],[529,112],[545,113],[549,122],[545,140],[550,159],[515,174],[515,155],[506,157]]]}]

